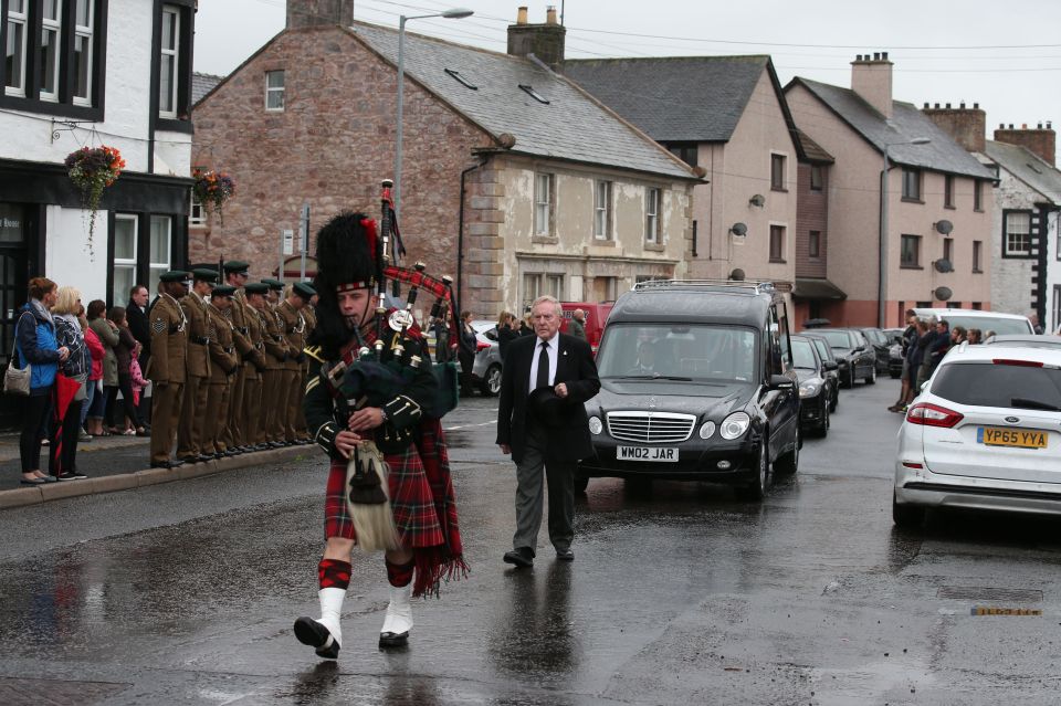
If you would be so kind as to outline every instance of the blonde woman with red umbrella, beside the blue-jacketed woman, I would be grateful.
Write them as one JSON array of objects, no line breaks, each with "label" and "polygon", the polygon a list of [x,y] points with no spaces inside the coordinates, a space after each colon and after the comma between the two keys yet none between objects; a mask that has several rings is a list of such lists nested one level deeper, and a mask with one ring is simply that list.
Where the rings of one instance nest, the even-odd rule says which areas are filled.
[{"label": "blonde woman with red umbrella, beside the blue-jacketed woman", "polygon": [[[60,287],[55,293],[55,304],[52,306],[52,320],[55,323],[55,339],[59,345],[70,351],[59,363],[59,372],[78,383],[70,404],[63,411],[60,407],[52,408],[52,444],[49,472],[60,481],[76,481],[86,478],[77,471],[77,439],[81,435],[81,408],[84,404],[88,383],[88,373],[92,371],[92,355],[85,345],[85,337],[81,333],[81,323],[77,314],[81,312],[81,292],[74,287]],[[55,389],[57,393],[59,388]],[[60,403],[53,394],[53,405]]]}]

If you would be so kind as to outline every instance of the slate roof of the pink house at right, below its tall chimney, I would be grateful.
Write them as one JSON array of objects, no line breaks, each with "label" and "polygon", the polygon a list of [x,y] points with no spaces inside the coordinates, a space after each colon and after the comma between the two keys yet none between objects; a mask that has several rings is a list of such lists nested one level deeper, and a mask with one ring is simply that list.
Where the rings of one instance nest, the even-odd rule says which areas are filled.
[{"label": "slate roof of the pink house at right, below its tall chimney", "polygon": [[[913,104],[892,102],[890,120],[851,88],[841,88],[809,78],[796,77],[788,87],[802,84],[824,103],[840,119],[862,136],[883,155],[884,146],[927,137],[927,145],[895,145],[887,150],[889,159],[907,167],[918,167],[945,173],[994,179],[995,175],[954,141]],[[787,89],[787,88],[786,88]]]}]

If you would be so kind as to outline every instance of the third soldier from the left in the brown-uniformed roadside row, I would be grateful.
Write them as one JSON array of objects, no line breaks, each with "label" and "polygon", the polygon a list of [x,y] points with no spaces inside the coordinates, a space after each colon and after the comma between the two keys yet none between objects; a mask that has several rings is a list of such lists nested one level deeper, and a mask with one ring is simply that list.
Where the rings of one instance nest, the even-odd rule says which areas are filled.
[{"label": "third soldier from the left in the brown-uniformed roadside row", "polygon": [[203,414],[207,418],[206,443],[214,459],[234,456],[224,445],[223,424],[228,419],[232,378],[239,371],[239,357],[232,340],[232,322],[224,313],[232,306],[235,287],[219,285],[210,295],[210,393]]}]

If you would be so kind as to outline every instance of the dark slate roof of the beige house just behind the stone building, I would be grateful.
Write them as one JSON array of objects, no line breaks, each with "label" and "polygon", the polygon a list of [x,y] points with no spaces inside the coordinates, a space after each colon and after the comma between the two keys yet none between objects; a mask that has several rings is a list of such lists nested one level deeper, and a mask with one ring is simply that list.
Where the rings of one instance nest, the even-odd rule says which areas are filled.
[{"label": "dark slate roof of the beige house just behind the stone building", "polygon": [[769,56],[564,62],[564,73],[661,143],[725,143]]}]

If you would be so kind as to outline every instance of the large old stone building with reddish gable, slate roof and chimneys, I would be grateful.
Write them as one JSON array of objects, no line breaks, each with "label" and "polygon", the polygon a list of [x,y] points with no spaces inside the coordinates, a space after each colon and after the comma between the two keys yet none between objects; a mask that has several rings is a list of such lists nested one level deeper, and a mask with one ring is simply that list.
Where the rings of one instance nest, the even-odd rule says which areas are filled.
[{"label": "large old stone building with reddish gable, slate roof and chimneys", "polygon": [[[307,13],[307,1],[288,0],[286,29],[195,108],[193,161],[230,172],[238,194],[223,223],[193,231],[192,260],[223,253],[264,273],[304,203],[315,224],[379,213],[398,33],[355,22],[348,3]],[[533,53],[535,28],[563,32],[555,15],[522,22],[513,51]],[[493,316],[545,293],[611,299],[640,278],[684,274],[701,181],[691,167],[536,56],[407,32],[403,57],[408,262],[452,274],[463,308]]]}]

